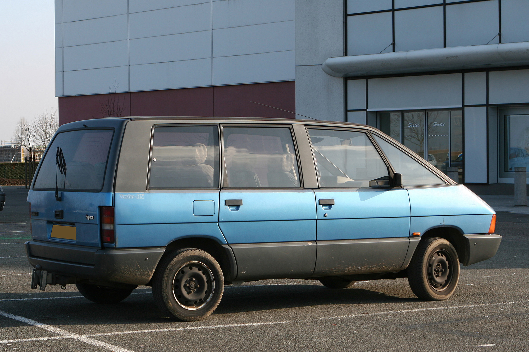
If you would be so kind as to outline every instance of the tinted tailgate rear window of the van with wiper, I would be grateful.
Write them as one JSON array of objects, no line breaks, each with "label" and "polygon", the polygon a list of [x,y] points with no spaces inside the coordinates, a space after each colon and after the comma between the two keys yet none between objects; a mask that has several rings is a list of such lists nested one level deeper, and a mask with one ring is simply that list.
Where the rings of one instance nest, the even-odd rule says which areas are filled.
[{"label": "tinted tailgate rear window of the van with wiper", "polygon": [[34,188],[63,191],[101,191],[113,130],[61,132],[53,139]]}]

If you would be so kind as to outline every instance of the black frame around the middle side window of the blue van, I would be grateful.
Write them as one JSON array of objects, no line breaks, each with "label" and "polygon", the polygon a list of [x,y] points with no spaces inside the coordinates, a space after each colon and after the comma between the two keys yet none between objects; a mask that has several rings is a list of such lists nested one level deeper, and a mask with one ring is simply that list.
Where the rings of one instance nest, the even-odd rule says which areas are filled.
[{"label": "black frame around the middle side window of the blue van", "polygon": [[[228,179],[227,179],[227,170],[225,169],[225,161],[224,161],[224,127],[261,127],[261,128],[288,128],[290,130],[290,136],[292,137],[293,146],[295,149],[295,155],[296,155],[296,163],[297,163],[297,172],[298,172],[298,178],[299,178],[299,187],[230,187],[227,185]],[[303,182],[303,172],[301,167],[301,162],[299,159],[299,152],[298,152],[298,145],[296,141],[296,135],[294,133],[294,128],[291,123],[285,123],[284,125],[281,123],[220,123],[220,158],[222,159],[221,163],[221,189],[259,189],[261,191],[267,191],[271,189],[304,189],[304,182]]]}]

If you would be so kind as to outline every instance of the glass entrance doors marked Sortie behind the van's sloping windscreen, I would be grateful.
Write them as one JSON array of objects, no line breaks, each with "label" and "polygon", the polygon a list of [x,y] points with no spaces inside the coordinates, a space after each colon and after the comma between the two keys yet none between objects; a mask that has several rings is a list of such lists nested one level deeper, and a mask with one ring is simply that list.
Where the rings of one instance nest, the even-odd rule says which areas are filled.
[{"label": "glass entrance doors marked Sortie behind the van's sloping windscreen", "polygon": [[[462,110],[379,112],[377,127],[442,172],[459,167],[463,173]],[[529,141],[529,139],[528,139]]]}]

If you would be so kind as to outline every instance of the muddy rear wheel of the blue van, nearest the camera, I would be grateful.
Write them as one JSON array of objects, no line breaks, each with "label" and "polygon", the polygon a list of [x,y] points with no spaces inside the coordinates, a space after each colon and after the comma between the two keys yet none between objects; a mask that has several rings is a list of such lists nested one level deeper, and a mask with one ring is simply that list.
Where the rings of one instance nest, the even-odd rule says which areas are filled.
[{"label": "muddy rear wheel of the blue van, nearest the camera", "polygon": [[222,269],[213,256],[195,248],[167,255],[154,273],[152,294],[167,316],[197,321],[217,308],[224,293]]}]

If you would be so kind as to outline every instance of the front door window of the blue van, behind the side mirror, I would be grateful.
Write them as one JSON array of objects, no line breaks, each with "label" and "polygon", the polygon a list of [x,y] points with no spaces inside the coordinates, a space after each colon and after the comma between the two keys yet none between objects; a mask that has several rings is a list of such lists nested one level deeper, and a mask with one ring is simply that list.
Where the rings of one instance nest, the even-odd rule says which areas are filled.
[{"label": "front door window of the blue van, behind the side mirror", "polygon": [[309,129],[321,187],[389,186],[388,168],[363,132]]}]

